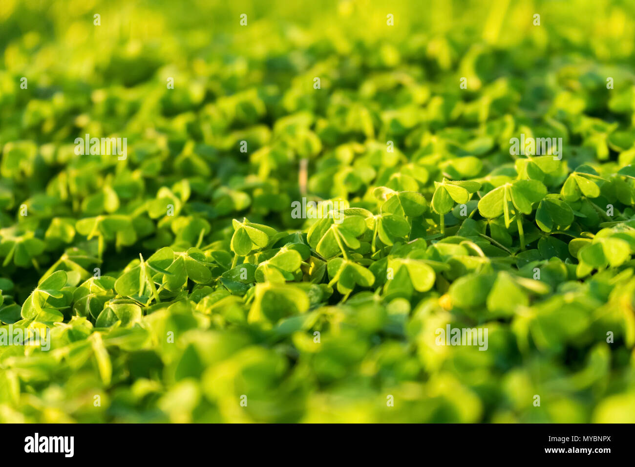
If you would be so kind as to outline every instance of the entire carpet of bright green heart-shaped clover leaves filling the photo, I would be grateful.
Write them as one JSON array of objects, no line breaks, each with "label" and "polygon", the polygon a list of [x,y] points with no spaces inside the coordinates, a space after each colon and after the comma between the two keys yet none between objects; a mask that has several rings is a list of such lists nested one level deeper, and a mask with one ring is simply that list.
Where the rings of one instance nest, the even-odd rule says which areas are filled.
[{"label": "entire carpet of bright green heart-shaped clover leaves filling the photo", "polygon": [[635,5],[185,4],[0,6],[1,421],[635,421]]}]

